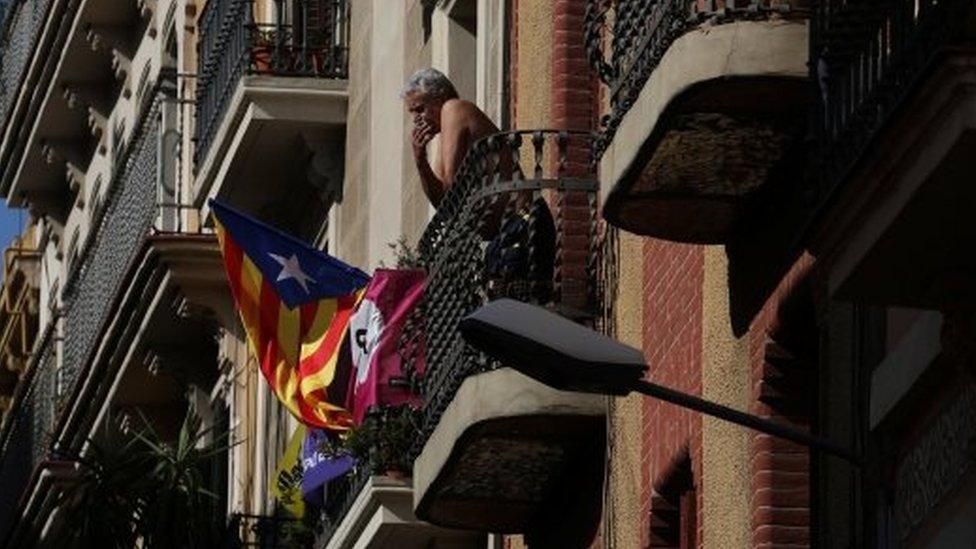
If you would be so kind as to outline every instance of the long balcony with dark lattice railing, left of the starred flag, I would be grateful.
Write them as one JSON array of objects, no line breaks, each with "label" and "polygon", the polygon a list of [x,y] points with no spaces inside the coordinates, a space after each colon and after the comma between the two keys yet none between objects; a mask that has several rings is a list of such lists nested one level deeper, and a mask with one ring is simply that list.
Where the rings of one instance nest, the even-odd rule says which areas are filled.
[{"label": "long balcony with dark lattice railing, left of the starred flag", "polygon": [[[124,425],[136,409],[164,436],[174,433],[187,387],[207,389],[216,377],[215,324],[236,320],[216,238],[201,231],[194,209],[166,198],[172,181],[161,176],[172,174],[159,151],[169,99],[156,95],[134,129],[92,235],[62,280],[60,316],[14,394],[0,448],[0,475],[22,479],[4,481],[13,487],[4,490],[7,510],[20,517],[9,546],[57,535],[56,524],[34,522],[47,520],[56,484],[71,472],[56,458],[82,455],[93,432]],[[30,459],[18,457],[28,448]]]}]

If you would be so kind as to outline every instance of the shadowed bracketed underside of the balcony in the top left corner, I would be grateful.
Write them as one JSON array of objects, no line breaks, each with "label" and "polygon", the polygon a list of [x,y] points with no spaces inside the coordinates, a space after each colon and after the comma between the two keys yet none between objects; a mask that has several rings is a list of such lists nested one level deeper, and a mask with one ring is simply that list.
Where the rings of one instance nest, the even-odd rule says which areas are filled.
[{"label": "shadowed bracketed underside of the balcony in the top left corner", "polygon": [[[125,88],[114,75],[113,46],[106,45],[103,34],[136,26],[138,15],[134,2],[51,4],[4,129],[0,191],[11,204],[30,202],[42,212],[60,214],[70,206],[66,178],[88,170],[106,131],[98,121],[110,115]],[[102,38],[98,47],[91,42],[95,36]],[[122,48],[126,56],[134,46]]]}]

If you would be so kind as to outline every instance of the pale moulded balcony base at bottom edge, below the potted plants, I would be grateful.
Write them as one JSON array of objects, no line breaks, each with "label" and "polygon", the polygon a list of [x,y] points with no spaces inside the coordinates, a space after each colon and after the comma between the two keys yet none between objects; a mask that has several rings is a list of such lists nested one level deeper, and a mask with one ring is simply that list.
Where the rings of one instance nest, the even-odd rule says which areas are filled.
[{"label": "pale moulded balcony base at bottom edge, below the potted plants", "polygon": [[398,547],[477,549],[484,536],[417,520],[409,481],[373,476],[325,544],[326,549]]}]

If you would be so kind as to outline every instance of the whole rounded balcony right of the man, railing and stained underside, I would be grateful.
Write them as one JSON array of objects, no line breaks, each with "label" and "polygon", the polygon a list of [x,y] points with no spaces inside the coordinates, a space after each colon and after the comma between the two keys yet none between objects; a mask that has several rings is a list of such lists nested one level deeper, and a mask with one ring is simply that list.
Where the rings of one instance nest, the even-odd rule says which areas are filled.
[{"label": "whole rounded balcony right of the man, railing and stained underside", "polygon": [[598,144],[608,222],[722,243],[799,178],[807,18],[804,2],[589,2],[586,46],[609,88]]}]

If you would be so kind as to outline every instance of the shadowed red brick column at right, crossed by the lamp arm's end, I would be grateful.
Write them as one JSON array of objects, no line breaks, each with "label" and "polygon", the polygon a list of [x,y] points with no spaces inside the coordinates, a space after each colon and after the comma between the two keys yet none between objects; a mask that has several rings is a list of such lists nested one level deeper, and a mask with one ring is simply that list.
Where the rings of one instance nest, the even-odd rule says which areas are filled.
[{"label": "shadowed red brick column at right, crossed by the lamp arm's end", "polygon": [[[812,266],[801,257],[780,281],[750,329],[752,412],[808,429],[816,366],[816,324],[800,287]],[[812,356],[811,356],[812,355]],[[815,379],[815,377],[813,378]],[[810,453],[797,444],[752,435],[752,546],[810,546]]]}]

